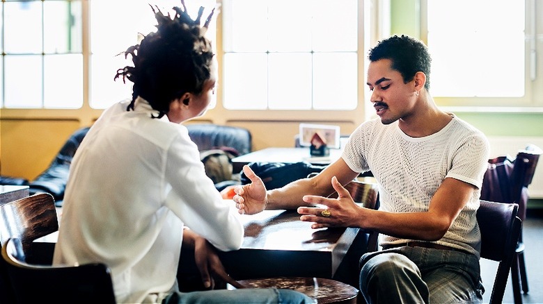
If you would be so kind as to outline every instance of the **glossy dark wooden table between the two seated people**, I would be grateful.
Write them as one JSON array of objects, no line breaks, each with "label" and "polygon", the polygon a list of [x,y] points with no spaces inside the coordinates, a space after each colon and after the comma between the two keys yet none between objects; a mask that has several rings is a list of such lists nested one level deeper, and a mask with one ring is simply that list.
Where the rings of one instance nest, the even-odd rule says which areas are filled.
[{"label": "glossy dark wooden table between the two seated people", "polygon": [[[358,288],[359,259],[366,251],[368,233],[359,228],[315,230],[311,223],[300,221],[295,210],[238,216],[245,227],[242,248],[220,253],[226,271],[236,280],[303,276],[332,278]],[[36,239],[32,250],[52,258],[57,236]],[[184,291],[200,289],[194,255],[181,253],[180,286]]]}]

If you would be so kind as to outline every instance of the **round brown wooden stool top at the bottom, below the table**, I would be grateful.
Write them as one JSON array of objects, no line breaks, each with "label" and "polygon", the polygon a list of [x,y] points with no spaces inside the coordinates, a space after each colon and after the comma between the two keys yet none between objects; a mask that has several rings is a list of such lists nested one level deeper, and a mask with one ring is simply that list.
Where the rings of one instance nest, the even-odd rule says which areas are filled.
[{"label": "round brown wooden stool top at the bottom, below the table", "polygon": [[313,298],[317,303],[356,303],[359,290],[351,285],[325,278],[260,278],[239,280],[247,288],[293,289]]}]

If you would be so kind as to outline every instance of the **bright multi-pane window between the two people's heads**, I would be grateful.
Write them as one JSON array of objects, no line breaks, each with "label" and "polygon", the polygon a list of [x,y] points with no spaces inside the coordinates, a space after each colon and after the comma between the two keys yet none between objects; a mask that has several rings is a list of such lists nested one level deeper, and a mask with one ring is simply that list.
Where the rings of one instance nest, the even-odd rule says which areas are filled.
[{"label": "bright multi-pane window between the two people's heads", "polygon": [[356,108],[357,2],[224,0],[224,107]]}]

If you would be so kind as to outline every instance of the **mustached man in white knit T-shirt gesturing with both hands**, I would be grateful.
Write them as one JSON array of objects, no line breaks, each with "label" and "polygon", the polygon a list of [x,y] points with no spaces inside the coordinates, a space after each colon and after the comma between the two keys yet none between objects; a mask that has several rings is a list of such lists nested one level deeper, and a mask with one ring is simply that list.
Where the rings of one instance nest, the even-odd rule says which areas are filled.
[{"label": "mustached man in white knit T-shirt gesturing with both hands", "polygon": [[[369,59],[368,86],[379,117],[356,128],[342,157],[313,178],[267,192],[244,167],[252,183],[235,189],[239,213],[297,208],[313,228],[381,233],[384,251],[361,259],[360,289],[368,303],[480,302],[475,213],[488,142],[437,108],[422,42],[393,36],[370,50]],[[379,184],[379,210],[359,207],[342,186],[364,171]],[[338,199],[327,199],[334,191]]]}]

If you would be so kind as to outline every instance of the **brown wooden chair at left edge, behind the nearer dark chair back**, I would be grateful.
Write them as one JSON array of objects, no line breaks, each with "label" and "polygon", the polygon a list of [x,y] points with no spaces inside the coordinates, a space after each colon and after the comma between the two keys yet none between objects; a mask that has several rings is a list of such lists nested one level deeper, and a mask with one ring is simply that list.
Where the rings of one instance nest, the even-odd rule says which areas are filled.
[{"label": "brown wooden chair at left edge, behind the nearer dark chair back", "polygon": [[[0,205],[0,247],[11,237],[17,237],[21,240],[24,250],[29,253],[27,257],[29,261],[37,264],[52,263],[52,252],[37,255],[33,254],[31,247],[34,239],[54,233],[56,230],[58,220],[51,194],[35,194]],[[13,300],[13,290],[3,263],[0,263],[0,294],[3,299]]]}]

